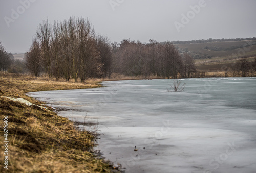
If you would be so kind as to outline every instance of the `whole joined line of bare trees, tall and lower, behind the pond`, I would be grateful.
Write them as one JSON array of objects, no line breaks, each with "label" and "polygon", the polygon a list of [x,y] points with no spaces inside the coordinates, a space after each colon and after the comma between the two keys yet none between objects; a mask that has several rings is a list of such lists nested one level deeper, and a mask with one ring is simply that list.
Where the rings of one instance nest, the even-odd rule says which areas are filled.
[{"label": "whole joined line of bare trees, tall and lower, behind the pond", "polygon": [[25,65],[35,76],[44,72],[56,80],[81,82],[110,78],[112,73],[189,78],[196,72],[193,58],[181,55],[171,42],[143,44],[124,39],[120,44],[111,43],[107,37],[96,36],[88,19],[73,17],[54,24],[41,21],[25,54]]}]

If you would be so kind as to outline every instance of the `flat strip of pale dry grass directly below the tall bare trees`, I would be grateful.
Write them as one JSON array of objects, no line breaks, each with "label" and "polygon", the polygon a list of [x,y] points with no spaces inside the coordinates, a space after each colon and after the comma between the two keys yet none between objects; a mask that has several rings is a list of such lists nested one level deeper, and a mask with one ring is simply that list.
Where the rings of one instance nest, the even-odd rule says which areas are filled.
[{"label": "flat strip of pale dry grass directly below the tall bare trees", "polygon": [[0,90],[5,93],[5,96],[25,98],[29,101],[36,100],[27,97],[24,93],[47,91],[47,90],[67,90],[67,89],[86,89],[100,87],[99,80],[88,80],[86,83],[65,81],[56,81],[49,77],[33,77],[30,75],[15,75],[5,72],[0,72]]}]

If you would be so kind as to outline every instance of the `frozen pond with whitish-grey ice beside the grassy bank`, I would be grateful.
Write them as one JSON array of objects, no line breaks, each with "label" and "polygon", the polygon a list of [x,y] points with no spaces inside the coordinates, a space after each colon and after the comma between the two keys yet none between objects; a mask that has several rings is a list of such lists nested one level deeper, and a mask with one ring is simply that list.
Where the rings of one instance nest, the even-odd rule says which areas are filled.
[{"label": "frozen pond with whitish-grey ice beside the grassy bank", "polygon": [[[125,172],[255,172],[256,78],[103,82],[29,96],[73,121],[95,122],[103,156]],[[136,149],[138,151],[134,151]]]}]

